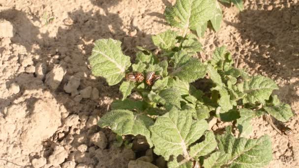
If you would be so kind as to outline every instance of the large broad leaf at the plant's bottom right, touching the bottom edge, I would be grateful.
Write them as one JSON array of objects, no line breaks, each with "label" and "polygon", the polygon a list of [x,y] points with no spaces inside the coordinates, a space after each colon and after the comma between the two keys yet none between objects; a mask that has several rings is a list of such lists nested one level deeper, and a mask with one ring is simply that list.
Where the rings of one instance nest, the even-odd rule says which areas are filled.
[{"label": "large broad leaf at the plant's bottom right, touching the bottom edge", "polygon": [[257,140],[238,138],[230,133],[217,136],[219,151],[204,161],[205,168],[263,168],[272,160],[271,140],[262,136]]}]

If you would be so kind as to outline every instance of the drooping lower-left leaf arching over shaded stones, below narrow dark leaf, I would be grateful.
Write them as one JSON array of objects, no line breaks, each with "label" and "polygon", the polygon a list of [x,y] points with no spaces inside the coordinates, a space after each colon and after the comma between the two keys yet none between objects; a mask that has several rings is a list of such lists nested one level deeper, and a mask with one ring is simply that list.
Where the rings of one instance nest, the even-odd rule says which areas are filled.
[{"label": "drooping lower-left leaf arching over shaded stones, below narrow dark leaf", "polygon": [[98,122],[100,127],[110,127],[118,135],[143,135],[147,138],[150,147],[152,142],[149,126],[153,124],[149,116],[128,110],[113,110],[106,113]]}]

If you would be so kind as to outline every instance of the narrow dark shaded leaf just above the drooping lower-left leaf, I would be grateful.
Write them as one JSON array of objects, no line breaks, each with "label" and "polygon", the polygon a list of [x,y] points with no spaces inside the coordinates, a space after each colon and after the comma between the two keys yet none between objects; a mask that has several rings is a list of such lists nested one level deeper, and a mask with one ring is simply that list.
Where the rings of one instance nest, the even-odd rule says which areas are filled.
[{"label": "narrow dark shaded leaf just above the drooping lower-left leaf", "polygon": [[139,110],[143,111],[146,109],[146,103],[142,101],[134,101],[130,99],[124,99],[123,101],[121,100],[115,100],[111,104],[111,109],[112,110],[117,110],[117,109],[124,109],[124,110]]}]

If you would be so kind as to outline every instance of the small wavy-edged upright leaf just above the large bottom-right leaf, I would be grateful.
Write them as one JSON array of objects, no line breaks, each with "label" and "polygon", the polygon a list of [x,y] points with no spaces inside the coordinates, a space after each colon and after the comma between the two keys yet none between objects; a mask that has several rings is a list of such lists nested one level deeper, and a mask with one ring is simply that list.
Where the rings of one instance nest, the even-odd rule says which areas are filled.
[{"label": "small wavy-edged upright leaf just above the large bottom-right leaf", "polygon": [[250,121],[255,117],[255,112],[250,109],[239,109],[240,118],[237,119],[237,128],[239,129],[239,137],[247,137],[252,132]]}]

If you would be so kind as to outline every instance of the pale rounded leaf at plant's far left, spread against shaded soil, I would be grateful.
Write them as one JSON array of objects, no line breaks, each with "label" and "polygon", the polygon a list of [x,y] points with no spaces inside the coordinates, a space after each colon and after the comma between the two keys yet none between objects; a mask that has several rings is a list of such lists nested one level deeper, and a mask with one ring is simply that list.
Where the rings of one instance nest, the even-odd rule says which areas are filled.
[{"label": "pale rounded leaf at plant's far left, spread against shaded soil", "polygon": [[105,78],[109,85],[120,83],[131,66],[130,57],[122,54],[120,45],[118,40],[96,40],[89,57],[92,74]]}]

